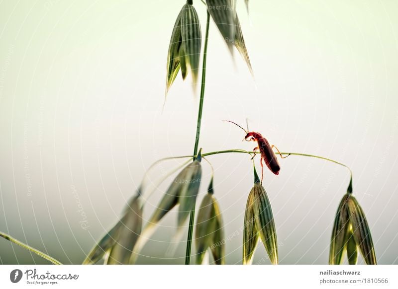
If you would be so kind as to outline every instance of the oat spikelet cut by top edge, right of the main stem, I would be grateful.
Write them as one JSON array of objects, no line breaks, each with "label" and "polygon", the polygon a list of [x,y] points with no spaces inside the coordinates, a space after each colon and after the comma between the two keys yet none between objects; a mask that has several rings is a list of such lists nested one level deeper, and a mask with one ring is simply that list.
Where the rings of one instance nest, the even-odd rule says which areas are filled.
[{"label": "oat spikelet cut by top edge, right of the main stem", "polygon": [[235,46],[253,75],[252,65],[236,13],[236,0],[206,0],[206,4],[207,10],[224,38],[229,51],[233,55],[233,46]]}]

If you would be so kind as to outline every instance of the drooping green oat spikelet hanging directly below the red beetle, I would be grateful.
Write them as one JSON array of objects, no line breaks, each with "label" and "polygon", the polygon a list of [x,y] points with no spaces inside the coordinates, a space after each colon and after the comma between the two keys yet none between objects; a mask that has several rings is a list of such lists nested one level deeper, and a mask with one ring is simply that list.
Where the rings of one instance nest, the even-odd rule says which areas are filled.
[{"label": "drooping green oat spikelet hanging directly below the red beetle", "polygon": [[247,199],[243,228],[243,264],[251,264],[260,236],[271,264],[278,264],[278,242],[267,192],[254,168],[254,186]]}]

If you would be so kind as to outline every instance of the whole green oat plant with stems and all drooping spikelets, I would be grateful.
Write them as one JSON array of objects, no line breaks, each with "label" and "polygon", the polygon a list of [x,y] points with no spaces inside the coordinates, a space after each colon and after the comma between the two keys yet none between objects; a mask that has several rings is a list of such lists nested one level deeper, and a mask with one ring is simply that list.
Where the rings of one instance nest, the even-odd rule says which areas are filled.
[{"label": "whole green oat plant with stems and all drooping spikelets", "polygon": [[[248,0],[245,0],[245,4],[248,12]],[[202,162],[203,160],[208,162],[206,156],[210,155],[241,153],[247,157],[249,161],[248,163],[250,164],[252,162],[251,159],[256,155],[256,150],[246,151],[244,149],[228,149],[206,152],[204,149],[199,149],[200,125],[205,95],[206,55],[207,44],[209,41],[210,21],[215,23],[215,26],[225,41],[225,45],[231,56],[233,57],[237,51],[247,64],[248,70],[251,74],[253,74],[253,70],[236,12],[236,0],[197,0],[195,1],[195,5],[196,6],[194,6],[192,0],[188,0],[185,4],[182,3],[180,11],[176,11],[177,19],[174,27],[171,29],[171,39],[167,52],[165,87],[165,96],[167,95],[168,97],[172,97],[170,94],[173,94],[173,82],[181,71],[183,79],[186,79],[188,75],[192,76],[194,83],[193,88],[195,91],[199,74],[201,75],[193,154],[168,157],[155,162],[148,171],[166,159],[187,159],[183,164],[183,167],[179,166],[173,169],[170,174],[167,174],[166,177],[160,179],[157,183],[157,185],[160,185],[168,176],[179,171],[163,197],[159,200],[157,208],[154,209],[151,217],[147,220],[143,219],[142,216],[143,210],[145,210],[145,200],[151,192],[149,192],[146,186],[148,171],[145,173],[139,189],[126,205],[120,219],[116,220],[114,226],[110,228],[110,230],[106,232],[96,244],[94,244],[92,250],[87,254],[86,259],[83,261],[83,264],[96,264],[98,262],[103,262],[103,264],[136,263],[142,248],[157,229],[159,222],[171,210],[176,208],[178,210],[178,229],[173,235],[176,240],[184,234],[187,236],[185,264],[191,264],[194,236],[194,262],[196,264],[208,263],[210,256],[212,257],[214,264],[225,263],[226,242],[224,238],[222,207],[216,199],[217,188],[214,187],[213,182],[213,179],[216,176],[214,176],[213,170],[211,181],[207,186],[207,193],[200,202],[195,223],[196,203],[198,201],[197,199],[201,187]],[[206,11],[203,39],[197,9],[205,9]],[[249,135],[250,134],[247,134],[247,136]],[[268,142],[263,142],[262,144],[268,145]],[[263,154],[264,151],[262,150],[262,147],[259,147],[259,149],[261,161],[264,160],[267,165],[269,164],[267,161],[270,162],[273,157],[276,158],[275,153],[271,153],[272,147],[270,147],[268,155]],[[329,264],[341,264],[344,256],[347,256],[349,264],[356,264],[358,252],[363,256],[366,264],[376,264],[376,255],[368,221],[363,209],[353,196],[351,169],[343,163],[322,156],[297,152],[280,152],[279,150],[278,153],[281,156],[292,155],[314,157],[348,168],[350,172],[350,182],[347,193],[343,196],[334,219],[330,242]],[[276,159],[274,162],[278,164]],[[253,165],[254,164],[255,162],[253,161]],[[274,173],[276,173],[276,171],[274,171]],[[155,189],[156,188],[157,186],[155,186]],[[265,250],[267,251],[270,263],[278,264],[276,228],[278,227],[277,224],[279,221],[274,219],[271,203],[266,192],[266,186],[262,183],[262,178],[260,180],[258,177],[255,166],[254,184],[252,188],[247,188],[247,191],[248,197],[246,210],[244,212],[244,218],[242,219],[242,263],[252,263],[257,244],[259,240],[261,240]],[[187,222],[188,232],[185,230],[187,228]],[[53,264],[60,264],[59,261],[49,255],[10,237],[8,234],[0,232],[0,236],[49,260]],[[325,262],[327,261],[325,260]]]}]

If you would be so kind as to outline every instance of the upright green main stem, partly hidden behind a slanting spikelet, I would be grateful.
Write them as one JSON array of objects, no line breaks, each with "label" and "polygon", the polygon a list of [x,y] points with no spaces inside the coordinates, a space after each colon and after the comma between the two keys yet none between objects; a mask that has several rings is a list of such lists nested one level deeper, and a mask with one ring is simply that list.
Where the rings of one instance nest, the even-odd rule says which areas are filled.
[{"label": "upright green main stem, partly hidden behind a slanting spikelet", "polygon": [[[210,23],[210,13],[206,9],[207,12],[207,20],[206,20],[206,34],[204,37],[204,48],[203,48],[203,62],[202,62],[202,79],[200,85],[200,100],[199,100],[199,111],[198,111],[198,123],[196,127],[196,139],[194,146],[194,160],[196,155],[198,154],[198,146],[199,146],[199,137],[200,137],[200,124],[202,120],[202,112],[203,112],[203,99],[204,99],[204,85],[206,80],[206,56],[207,56],[207,42],[208,42],[208,27]],[[194,219],[195,219],[195,204],[194,208],[190,214],[190,224],[188,227],[188,237],[187,237],[187,250],[185,253],[185,265],[189,265],[191,263],[191,247],[192,247],[192,235],[194,232]]]}]

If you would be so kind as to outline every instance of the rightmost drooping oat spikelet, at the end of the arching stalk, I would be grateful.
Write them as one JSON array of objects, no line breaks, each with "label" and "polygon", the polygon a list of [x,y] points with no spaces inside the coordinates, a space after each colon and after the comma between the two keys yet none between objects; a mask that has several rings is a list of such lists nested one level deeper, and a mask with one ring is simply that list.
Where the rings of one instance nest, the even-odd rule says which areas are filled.
[{"label": "rightmost drooping oat spikelet, at the end of the arching stalk", "polygon": [[370,228],[361,206],[352,196],[350,182],[348,193],[341,200],[334,220],[329,264],[342,264],[345,252],[348,263],[356,264],[358,249],[366,264],[377,264]]}]

